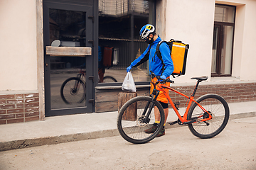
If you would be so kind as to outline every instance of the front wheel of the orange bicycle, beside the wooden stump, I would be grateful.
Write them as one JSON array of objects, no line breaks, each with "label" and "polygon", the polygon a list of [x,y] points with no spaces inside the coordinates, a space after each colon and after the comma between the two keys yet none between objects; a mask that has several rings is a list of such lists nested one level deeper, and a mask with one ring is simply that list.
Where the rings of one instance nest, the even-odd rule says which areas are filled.
[{"label": "front wheel of the orange bicycle, beside the wooden stump", "polygon": [[[152,108],[152,109],[150,109]],[[159,114],[154,114],[156,110]],[[146,133],[144,130],[153,126],[153,123],[160,118],[158,128],[153,133]],[[134,144],[143,144],[153,140],[164,126],[164,108],[159,101],[151,101],[149,96],[137,96],[124,103],[117,117],[117,129],[120,135]]]}]

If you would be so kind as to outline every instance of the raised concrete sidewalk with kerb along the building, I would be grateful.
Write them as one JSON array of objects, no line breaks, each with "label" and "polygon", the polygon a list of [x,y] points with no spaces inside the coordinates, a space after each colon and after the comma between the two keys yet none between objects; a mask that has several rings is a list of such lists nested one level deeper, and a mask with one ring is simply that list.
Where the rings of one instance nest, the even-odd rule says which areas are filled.
[{"label": "raised concrete sidewalk with kerb along the building", "polygon": [[[229,103],[229,107],[230,119],[256,116],[256,101]],[[183,114],[182,108],[180,113]],[[175,120],[177,116],[171,108],[167,121]],[[117,112],[63,115],[44,121],[0,125],[0,134],[0,151],[111,137],[119,135]]]}]

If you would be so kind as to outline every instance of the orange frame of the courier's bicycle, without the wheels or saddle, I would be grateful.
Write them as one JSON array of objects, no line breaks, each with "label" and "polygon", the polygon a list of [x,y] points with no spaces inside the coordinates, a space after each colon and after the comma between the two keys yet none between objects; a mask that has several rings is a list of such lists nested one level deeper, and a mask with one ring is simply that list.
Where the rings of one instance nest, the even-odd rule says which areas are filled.
[{"label": "orange frame of the courier's bicycle, without the wheels or saddle", "polygon": [[[205,108],[203,108],[203,106],[201,106],[199,103],[197,103],[193,98],[196,94],[196,90],[197,90],[197,87],[198,87],[198,84],[199,84],[199,81],[197,82],[196,86],[195,86],[195,89],[193,90],[193,93],[191,94],[190,97],[186,96],[185,94],[182,94],[181,92],[179,91],[176,91],[175,89],[172,89],[170,86],[166,86],[164,84],[161,84],[161,83],[156,83],[157,81],[154,81],[152,80],[151,83],[154,85],[155,89],[156,89],[156,86],[159,88],[158,90],[159,91],[162,91],[164,93],[164,96],[166,96],[167,100],[169,101],[169,103],[171,104],[171,107],[174,109],[174,112],[176,113],[176,115],[178,116],[178,119],[181,120],[181,123],[184,123],[184,124],[188,124],[188,123],[195,123],[195,122],[204,122],[206,120],[210,120],[212,119],[212,115],[210,115],[210,113],[208,113],[208,111],[206,111]],[[181,96],[184,96],[186,98],[189,99],[189,102],[188,102],[188,106],[186,107],[186,111],[184,113],[183,116],[181,116],[181,114],[178,112],[178,109],[176,108],[176,106],[174,105],[174,102],[171,100],[171,97],[169,96],[169,94],[167,94],[164,89],[169,89],[171,91],[174,91],[176,94],[180,94]],[[203,119],[200,119],[198,120],[199,118],[202,118],[203,117],[203,114],[198,116],[197,118],[193,118],[192,120],[188,120],[187,117],[188,117],[188,111],[189,111],[189,108],[191,107],[192,103],[195,102],[198,107],[200,107],[203,111],[203,113],[208,113],[209,117],[208,118],[203,118]]]}]

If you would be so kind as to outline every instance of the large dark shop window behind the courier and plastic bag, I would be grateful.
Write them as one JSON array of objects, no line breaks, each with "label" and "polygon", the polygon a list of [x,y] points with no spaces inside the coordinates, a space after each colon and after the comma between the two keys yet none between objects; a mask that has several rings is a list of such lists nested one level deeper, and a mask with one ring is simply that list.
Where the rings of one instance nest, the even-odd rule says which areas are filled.
[{"label": "large dark shop window behind the courier and plastic bag", "polygon": [[[146,23],[154,24],[154,11],[153,0],[99,0],[100,82],[110,82],[103,77],[124,81],[126,68],[146,50],[139,30]],[[133,68],[132,74],[134,81],[149,81],[147,62]]]}]

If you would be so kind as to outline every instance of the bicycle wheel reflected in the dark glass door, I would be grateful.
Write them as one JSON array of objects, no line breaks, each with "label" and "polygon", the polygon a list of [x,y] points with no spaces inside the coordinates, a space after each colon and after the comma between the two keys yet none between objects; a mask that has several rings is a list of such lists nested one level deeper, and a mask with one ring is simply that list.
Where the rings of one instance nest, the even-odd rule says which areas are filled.
[{"label": "bicycle wheel reflected in the dark glass door", "polygon": [[60,88],[60,96],[65,103],[82,103],[86,96],[85,83],[78,77],[66,79]]}]

